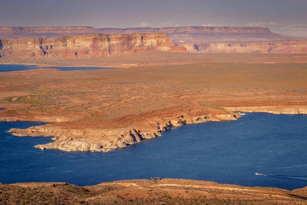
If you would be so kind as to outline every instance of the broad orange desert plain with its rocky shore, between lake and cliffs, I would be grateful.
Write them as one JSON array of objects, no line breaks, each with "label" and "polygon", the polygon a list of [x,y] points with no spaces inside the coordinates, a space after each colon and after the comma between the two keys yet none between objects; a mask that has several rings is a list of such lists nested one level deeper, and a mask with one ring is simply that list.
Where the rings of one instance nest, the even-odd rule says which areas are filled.
[{"label": "broad orange desert plain with its rocky shore, between lake and cliffs", "polygon": [[161,136],[171,127],[240,117],[233,111],[307,113],[305,54],[148,51],[83,60],[28,63],[147,66],[0,73],[0,107],[5,108],[0,121],[54,122],[11,130],[17,136],[54,137],[40,149],[106,152]]}]

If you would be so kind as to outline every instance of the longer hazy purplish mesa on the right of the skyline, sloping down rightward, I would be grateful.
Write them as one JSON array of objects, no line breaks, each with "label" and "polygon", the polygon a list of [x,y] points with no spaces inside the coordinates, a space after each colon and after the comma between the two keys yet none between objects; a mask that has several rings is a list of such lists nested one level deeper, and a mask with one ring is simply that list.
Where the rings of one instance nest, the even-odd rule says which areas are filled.
[{"label": "longer hazy purplish mesa on the right of the skyline, sloping down rightward", "polygon": [[289,40],[306,40],[307,38],[272,33],[261,27],[168,27],[168,28],[102,28],[97,29],[105,34],[124,33],[166,33],[172,42],[177,43],[258,43]]}]

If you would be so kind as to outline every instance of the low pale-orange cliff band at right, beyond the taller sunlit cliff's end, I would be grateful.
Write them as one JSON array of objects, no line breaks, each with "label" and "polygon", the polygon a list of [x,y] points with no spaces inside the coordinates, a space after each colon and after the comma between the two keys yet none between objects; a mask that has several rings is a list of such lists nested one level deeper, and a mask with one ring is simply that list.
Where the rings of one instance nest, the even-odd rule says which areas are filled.
[{"label": "low pale-orange cliff band at right, beyond the taller sunlit cliff's end", "polygon": [[181,44],[190,53],[307,53],[307,41],[272,43]]}]

